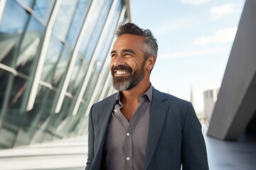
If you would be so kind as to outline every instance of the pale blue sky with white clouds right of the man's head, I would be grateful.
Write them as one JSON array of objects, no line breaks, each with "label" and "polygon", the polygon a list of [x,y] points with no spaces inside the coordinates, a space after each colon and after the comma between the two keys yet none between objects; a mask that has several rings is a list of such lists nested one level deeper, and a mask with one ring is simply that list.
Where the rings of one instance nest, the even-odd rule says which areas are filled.
[{"label": "pale blue sky with white clouds right of the man's head", "polygon": [[[152,31],[159,45],[151,84],[196,110],[203,91],[220,87],[245,0],[130,0],[132,23]],[[194,106],[195,107],[195,106]]]}]

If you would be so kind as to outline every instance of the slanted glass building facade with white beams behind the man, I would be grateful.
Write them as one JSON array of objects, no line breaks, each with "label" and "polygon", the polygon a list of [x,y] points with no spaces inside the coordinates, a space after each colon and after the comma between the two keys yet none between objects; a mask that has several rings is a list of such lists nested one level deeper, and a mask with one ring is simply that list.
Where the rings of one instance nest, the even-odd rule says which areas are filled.
[{"label": "slanted glass building facade with white beams behind the man", "polygon": [[85,135],[124,0],[0,0],[0,149]]}]

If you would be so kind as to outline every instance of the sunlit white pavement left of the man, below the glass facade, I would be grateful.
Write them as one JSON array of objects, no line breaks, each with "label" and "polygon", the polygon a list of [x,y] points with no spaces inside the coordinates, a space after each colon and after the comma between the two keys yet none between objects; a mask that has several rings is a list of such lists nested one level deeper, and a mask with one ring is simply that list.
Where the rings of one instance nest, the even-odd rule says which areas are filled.
[{"label": "sunlit white pavement left of the man, below the glass facade", "polygon": [[0,150],[0,170],[84,170],[87,137]]}]

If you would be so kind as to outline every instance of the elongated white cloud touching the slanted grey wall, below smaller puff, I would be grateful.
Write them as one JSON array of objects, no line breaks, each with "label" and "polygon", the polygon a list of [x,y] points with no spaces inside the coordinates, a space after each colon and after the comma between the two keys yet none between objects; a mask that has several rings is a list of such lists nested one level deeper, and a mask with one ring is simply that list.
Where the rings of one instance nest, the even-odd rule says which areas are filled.
[{"label": "elongated white cloud touching the slanted grey wall, below smaller puff", "polygon": [[211,44],[211,43],[230,42],[235,39],[235,34],[236,34],[237,30],[238,30],[238,27],[218,30],[213,35],[197,38],[195,40],[195,43],[196,43],[196,45],[207,45],[207,44]]}]

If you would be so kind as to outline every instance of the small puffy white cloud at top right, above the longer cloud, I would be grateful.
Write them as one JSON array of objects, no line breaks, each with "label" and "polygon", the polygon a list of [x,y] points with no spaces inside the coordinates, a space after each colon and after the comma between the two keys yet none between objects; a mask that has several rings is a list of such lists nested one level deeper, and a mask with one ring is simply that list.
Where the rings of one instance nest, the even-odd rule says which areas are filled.
[{"label": "small puffy white cloud at top right, above the longer cloud", "polygon": [[214,21],[233,13],[235,13],[234,4],[223,4],[222,6],[210,8],[210,18],[212,18]]}]

